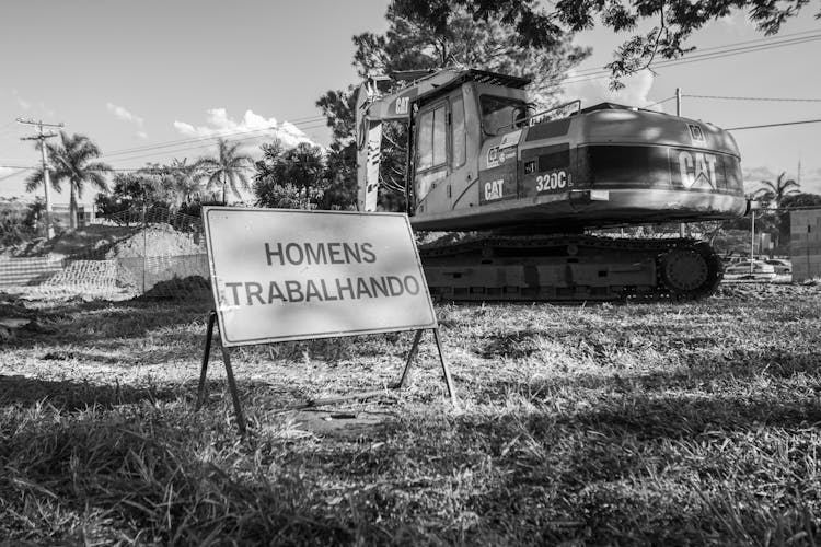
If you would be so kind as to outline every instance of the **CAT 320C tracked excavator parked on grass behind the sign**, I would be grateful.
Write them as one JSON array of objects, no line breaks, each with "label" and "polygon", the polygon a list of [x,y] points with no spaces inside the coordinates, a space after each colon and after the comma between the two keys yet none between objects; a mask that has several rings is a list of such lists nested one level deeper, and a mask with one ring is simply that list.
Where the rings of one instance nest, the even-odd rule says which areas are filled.
[{"label": "CAT 320C tracked excavator parked on grass behind the sign", "polygon": [[[738,147],[712,124],[612,103],[536,112],[529,80],[475,69],[371,78],[356,105],[360,211],[378,209],[383,124],[407,125],[412,226],[432,296],[695,300],[721,260],[691,237],[592,235],[743,216]],[[391,88],[386,88],[386,84]]]}]

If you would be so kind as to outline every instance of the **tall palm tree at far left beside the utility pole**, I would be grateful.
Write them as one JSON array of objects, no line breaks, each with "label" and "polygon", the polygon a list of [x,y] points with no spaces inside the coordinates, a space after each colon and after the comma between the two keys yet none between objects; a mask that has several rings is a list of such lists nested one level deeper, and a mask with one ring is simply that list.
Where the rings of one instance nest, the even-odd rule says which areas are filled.
[{"label": "tall palm tree at far left beside the utility pole", "polygon": [[[69,181],[69,228],[76,230],[77,199],[82,198],[85,183],[91,183],[101,191],[108,191],[103,173],[109,173],[112,167],[92,161],[100,158],[100,148],[84,135],[69,136],[66,131],[60,131],[60,141],[59,144],[46,146],[50,163],[49,175],[56,191],[62,191],[62,181]],[[43,167],[39,167],[26,179],[26,190],[34,191],[43,184]]]}]

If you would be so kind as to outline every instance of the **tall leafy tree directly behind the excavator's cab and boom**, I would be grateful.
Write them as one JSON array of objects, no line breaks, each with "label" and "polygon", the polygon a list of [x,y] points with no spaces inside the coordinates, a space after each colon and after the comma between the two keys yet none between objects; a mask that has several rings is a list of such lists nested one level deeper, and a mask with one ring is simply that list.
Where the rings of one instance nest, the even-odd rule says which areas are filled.
[{"label": "tall leafy tree directly behind the excavator's cab and boom", "polygon": [[[531,93],[547,106],[555,102],[562,77],[589,55],[589,49],[573,46],[569,35],[550,44],[525,44],[517,36],[517,26],[511,21],[477,21],[464,2],[442,0],[439,4],[447,8],[447,12],[433,10],[437,16],[441,15],[433,21],[429,16],[432,12],[419,11],[410,0],[392,2],[385,13],[389,27],[384,34],[365,33],[354,37],[354,66],[359,75],[446,67],[495,70],[531,78],[534,82]],[[332,187],[350,185],[355,174],[355,88],[349,86],[328,91],[316,102],[332,128],[337,150],[344,158],[351,159],[349,170],[333,173]],[[396,209],[405,201],[406,128],[400,124],[385,125],[383,138],[380,179],[389,191],[380,193],[380,206]]]}]

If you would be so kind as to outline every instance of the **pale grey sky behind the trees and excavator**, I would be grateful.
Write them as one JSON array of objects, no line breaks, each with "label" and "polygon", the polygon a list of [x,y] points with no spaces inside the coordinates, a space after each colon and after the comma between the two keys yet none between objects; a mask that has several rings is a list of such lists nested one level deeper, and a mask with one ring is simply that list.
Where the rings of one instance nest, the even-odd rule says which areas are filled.
[{"label": "pale grey sky behind the trees and excavator", "polygon": [[[190,163],[213,152],[215,135],[239,133],[234,138],[244,139],[251,154],[258,154],[259,138],[273,136],[326,146],[331,135],[315,102],[327,90],[358,83],[351,36],[383,32],[386,5],[388,0],[2,0],[0,197],[28,201],[42,193],[25,193],[39,152],[33,141],[21,140],[34,128],[16,118],[65,124],[69,133],[90,137],[116,170],[173,158]],[[719,127],[821,119],[821,39],[811,39],[821,37],[817,11],[814,3],[805,8],[774,37],[735,12],[696,32],[689,43],[698,48],[692,55],[733,45],[761,49],[659,65],[625,80],[617,93],[609,91],[606,75],[587,74],[609,62],[628,35],[598,26],[575,37],[593,54],[569,74],[564,95],[585,105],[661,102],[654,108],[674,113],[680,88],[682,115]],[[806,39],[774,47],[797,38]],[[821,194],[821,124],[733,130],[733,136],[751,186],[782,172],[797,178],[800,161],[802,189]],[[92,197],[86,193],[83,201]],[[53,195],[53,202],[68,202],[68,190]]]}]

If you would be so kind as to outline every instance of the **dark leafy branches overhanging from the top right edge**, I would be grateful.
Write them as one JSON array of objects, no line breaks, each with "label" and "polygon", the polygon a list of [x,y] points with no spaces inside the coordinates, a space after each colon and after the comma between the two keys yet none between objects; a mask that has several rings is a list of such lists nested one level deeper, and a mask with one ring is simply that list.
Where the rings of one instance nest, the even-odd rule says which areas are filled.
[{"label": "dark leafy branches overhanging from the top right edge", "polygon": [[[656,20],[658,24],[646,35],[634,35],[615,51],[606,66],[611,88],[623,86],[621,78],[651,68],[657,58],[673,59],[695,47],[687,47],[690,36],[709,21],[745,10],[759,31],[770,36],[795,16],[809,0],[776,2],[774,0],[558,0],[552,11],[536,0],[396,0],[406,15],[424,21],[437,33],[448,28],[450,18],[464,10],[474,21],[500,21],[516,30],[513,38],[528,47],[553,47],[567,33],[587,31],[598,19],[615,32],[633,32],[639,21]],[[821,12],[816,19],[821,18]]]}]

